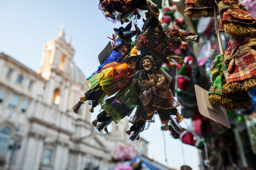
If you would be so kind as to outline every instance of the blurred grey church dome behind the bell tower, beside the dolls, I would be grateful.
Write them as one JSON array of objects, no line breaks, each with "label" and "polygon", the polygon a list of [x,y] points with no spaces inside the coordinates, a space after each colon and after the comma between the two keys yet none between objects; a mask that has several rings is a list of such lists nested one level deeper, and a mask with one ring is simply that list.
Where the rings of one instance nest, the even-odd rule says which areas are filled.
[{"label": "blurred grey church dome behind the bell tower, beside the dolls", "polygon": [[84,73],[78,67],[76,67],[73,62],[70,62],[69,76],[76,83],[86,86]]}]

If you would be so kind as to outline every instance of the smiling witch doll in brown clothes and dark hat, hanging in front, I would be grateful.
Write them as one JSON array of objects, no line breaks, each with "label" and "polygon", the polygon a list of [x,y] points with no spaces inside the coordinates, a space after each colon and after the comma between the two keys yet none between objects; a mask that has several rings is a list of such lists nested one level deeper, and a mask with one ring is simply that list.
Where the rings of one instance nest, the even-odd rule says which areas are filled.
[{"label": "smiling witch doll in brown clothes and dark hat, hanging in front", "polygon": [[173,98],[169,89],[170,79],[168,79],[161,69],[161,60],[152,52],[142,54],[136,62],[136,70],[132,79],[132,86],[138,86],[141,93],[139,95],[140,103],[134,116],[130,118],[130,123],[134,124],[130,127],[127,134],[131,134],[130,140],[136,140],[139,134],[144,130],[146,122],[153,122],[153,115],[158,113],[160,119],[165,121],[165,130],[168,130],[168,123],[171,121],[173,129],[178,133],[183,129],[180,127],[175,118],[176,115],[179,122],[183,116],[176,109],[180,104]]}]

